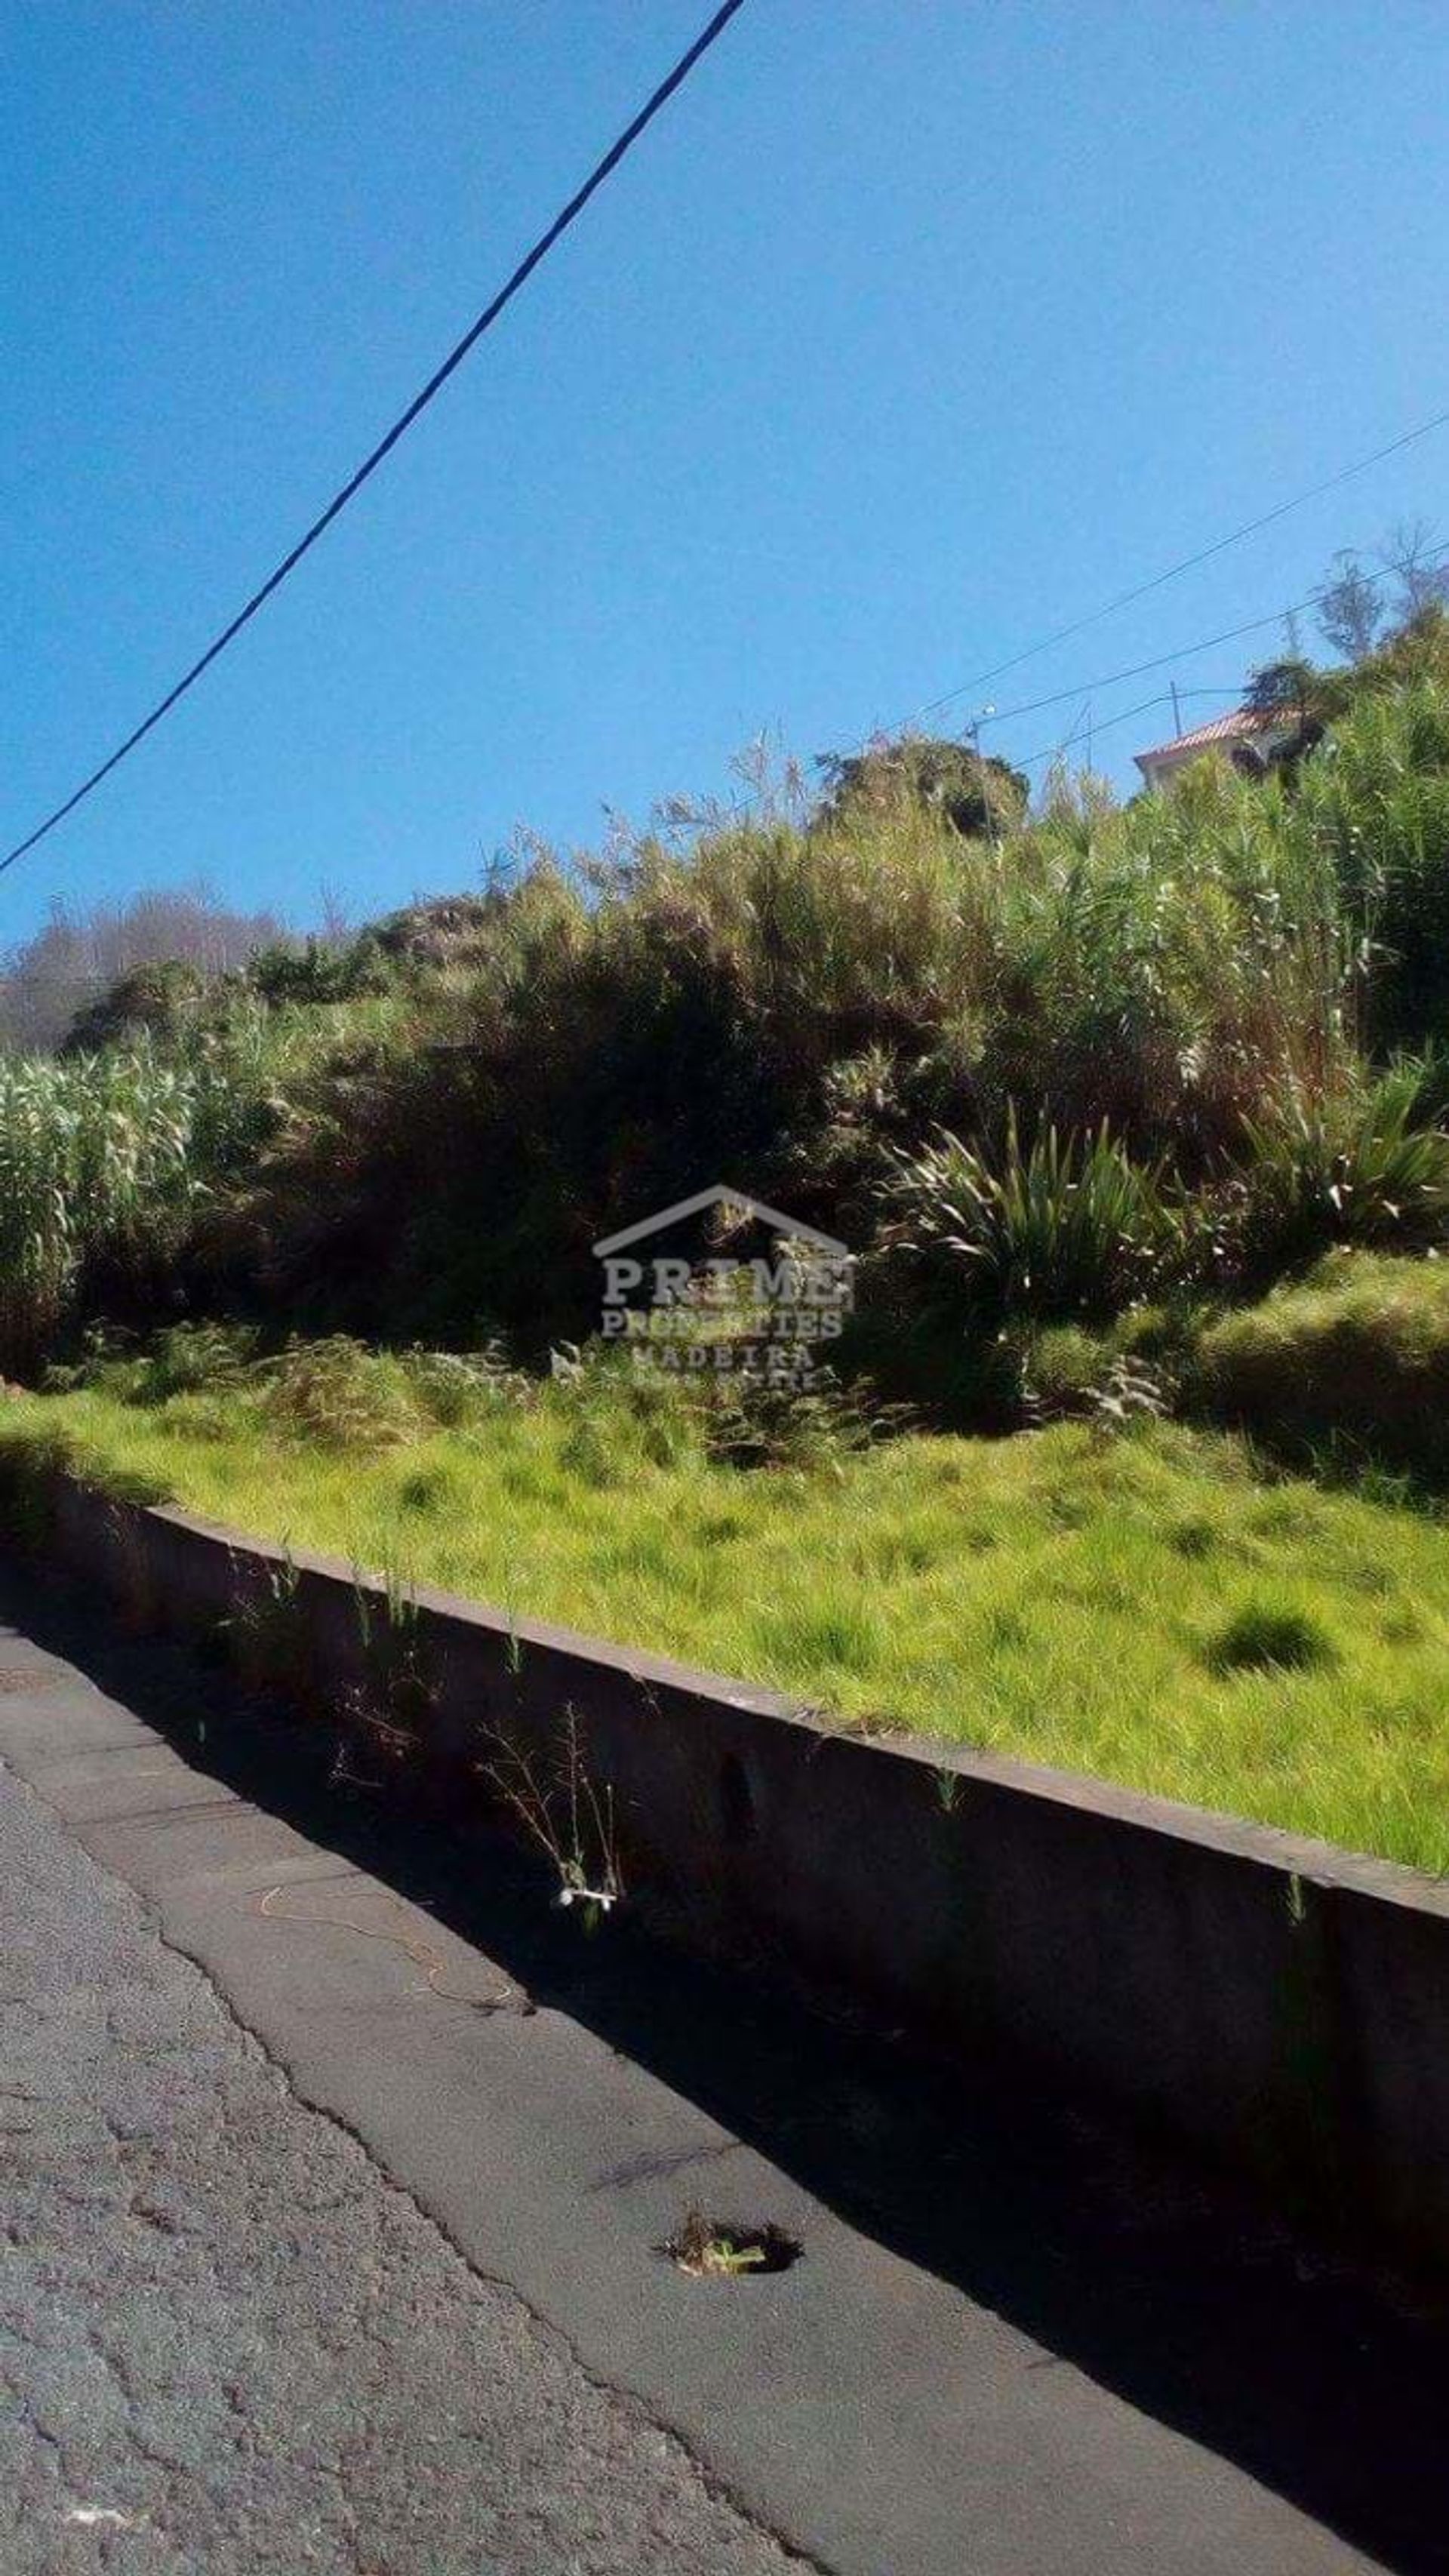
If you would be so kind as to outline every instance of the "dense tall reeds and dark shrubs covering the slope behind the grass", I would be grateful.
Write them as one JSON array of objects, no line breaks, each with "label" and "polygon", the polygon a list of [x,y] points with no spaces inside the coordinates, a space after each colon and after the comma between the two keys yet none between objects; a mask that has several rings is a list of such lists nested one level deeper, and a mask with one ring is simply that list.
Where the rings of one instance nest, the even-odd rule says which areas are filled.
[{"label": "dense tall reeds and dark shrubs covering the slope behind the grass", "polygon": [[973,1316],[1431,1242],[1444,1059],[1369,1066],[1446,1038],[1436,636],[1351,675],[1292,778],[1204,762],[1122,811],[1058,783],[986,840],[947,796],[968,755],[909,791],[888,760],[813,817],[669,817],[263,956],[95,1072],[10,1066],[8,1350],[165,1273],[281,1329],[538,1358],[595,1321],[597,1236],[728,1182],[862,1257],[914,1244],[875,1327],[919,1401],[955,1316],[986,1399]]}]

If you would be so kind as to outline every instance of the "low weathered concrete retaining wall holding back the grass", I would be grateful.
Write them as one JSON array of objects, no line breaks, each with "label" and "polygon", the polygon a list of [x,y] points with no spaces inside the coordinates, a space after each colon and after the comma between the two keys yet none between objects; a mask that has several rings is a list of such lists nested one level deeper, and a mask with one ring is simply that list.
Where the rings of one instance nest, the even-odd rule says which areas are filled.
[{"label": "low weathered concrete retaining wall holding back the grass", "polygon": [[[288,1656],[332,1708],[376,1677],[381,1584],[62,1479],[64,1564],[139,1618]],[[296,1579],[293,1571],[296,1569]],[[281,1600],[281,1610],[278,1610]],[[1449,2259],[1449,1891],[1266,1826],[806,1710],[664,1656],[409,1595],[422,1770],[574,1710],[631,1888],[875,2017],[1125,2110],[1356,2233]],[[237,1620],[242,1605],[260,1618]],[[268,1607],[270,1605],[270,1607]],[[373,1649],[363,1643],[363,1628]]]}]

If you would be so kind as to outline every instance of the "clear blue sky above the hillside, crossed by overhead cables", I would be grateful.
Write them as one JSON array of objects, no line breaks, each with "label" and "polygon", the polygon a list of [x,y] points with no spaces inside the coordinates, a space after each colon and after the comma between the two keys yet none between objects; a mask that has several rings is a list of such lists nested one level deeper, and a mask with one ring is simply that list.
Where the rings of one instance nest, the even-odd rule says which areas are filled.
[{"label": "clear blue sky above the hillside, crossed by overhead cables", "polygon": [[[5,842],[239,605],[705,15],[0,10]],[[296,582],[0,878],[0,945],[51,896],[203,873],[365,917],[474,881],[515,824],[597,842],[605,804],[718,788],[762,726],[808,757],[909,719],[1444,410],[1446,95],[1441,0],[749,0]],[[1441,430],[978,698],[1261,616],[1398,515],[1449,541],[1446,484]],[[1096,724],[1153,685],[1099,688]],[[1099,755],[1130,775],[1166,732]]]}]

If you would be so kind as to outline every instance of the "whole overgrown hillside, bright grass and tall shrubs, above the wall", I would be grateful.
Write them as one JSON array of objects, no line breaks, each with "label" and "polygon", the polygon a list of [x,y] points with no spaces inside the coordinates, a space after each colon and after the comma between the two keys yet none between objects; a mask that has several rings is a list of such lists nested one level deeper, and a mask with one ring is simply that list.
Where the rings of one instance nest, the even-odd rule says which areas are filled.
[{"label": "whole overgrown hillside, bright grass and tall shrubs, above the wall", "polygon": [[[1323,721],[1035,814],[896,744],[129,976],[0,1059],[10,1463],[1449,1865],[1446,618]],[[860,1257],[836,1388],[589,1347],[713,1182]]]}]

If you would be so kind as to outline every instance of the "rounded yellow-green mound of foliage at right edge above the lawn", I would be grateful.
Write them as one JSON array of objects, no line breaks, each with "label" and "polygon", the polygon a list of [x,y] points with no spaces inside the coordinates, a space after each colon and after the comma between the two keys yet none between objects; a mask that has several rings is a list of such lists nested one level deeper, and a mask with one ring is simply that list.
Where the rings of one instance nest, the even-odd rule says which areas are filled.
[{"label": "rounded yellow-green mound of foliage at right edge above the lawn", "polygon": [[1295,1458],[1446,1484],[1449,1265],[1333,1255],[1202,1334],[1192,1401]]}]

